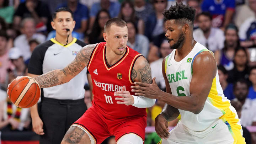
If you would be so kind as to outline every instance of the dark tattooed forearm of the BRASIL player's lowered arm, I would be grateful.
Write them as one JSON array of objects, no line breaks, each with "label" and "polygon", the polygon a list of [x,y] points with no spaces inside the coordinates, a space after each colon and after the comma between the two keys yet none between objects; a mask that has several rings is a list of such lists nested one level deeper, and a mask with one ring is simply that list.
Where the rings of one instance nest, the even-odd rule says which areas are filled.
[{"label": "dark tattooed forearm of the BRASIL player's lowered arm", "polygon": [[180,112],[178,111],[177,108],[172,107],[170,105],[165,104],[163,111],[161,112],[161,114],[165,117],[165,119],[167,121],[172,121],[175,118],[178,117],[178,115],[180,114]]}]

